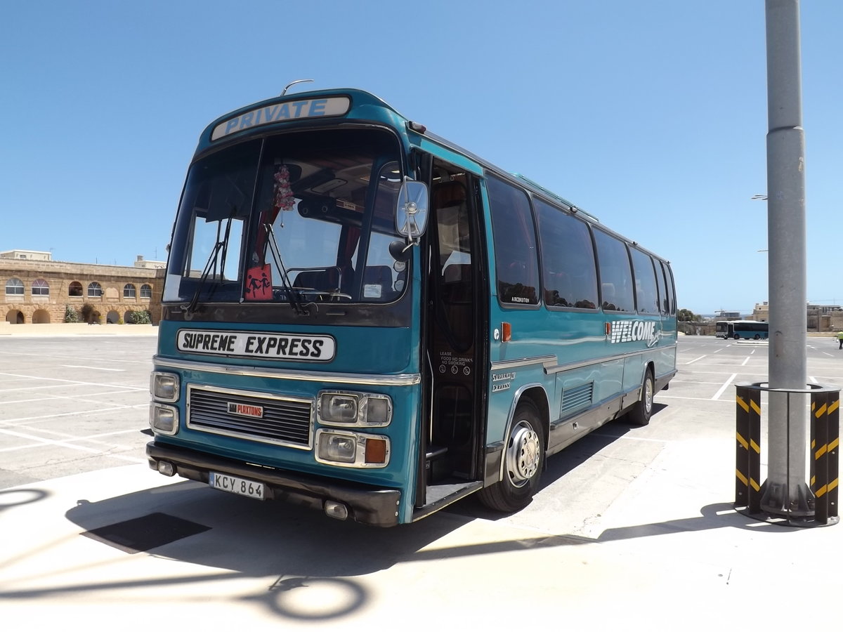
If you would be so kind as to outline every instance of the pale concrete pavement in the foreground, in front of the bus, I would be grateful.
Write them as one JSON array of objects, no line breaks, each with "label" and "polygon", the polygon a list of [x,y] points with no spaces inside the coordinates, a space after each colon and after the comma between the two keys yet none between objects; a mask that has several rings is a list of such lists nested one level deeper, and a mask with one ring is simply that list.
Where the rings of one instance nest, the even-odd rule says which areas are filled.
[{"label": "pale concrete pavement in the foreground, in front of the bus", "polygon": [[[24,485],[0,491],[0,611],[38,629],[88,630],[819,623],[843,587],[840,527],[733,511],[731,490],[702,480],[711,454],[728,452],[709,447],[663,451],[593,518],[592,537],[464,506],[365,528],[143,465]],[[201,532],[139,551],[137,534],[115,538],[114,525],[161,515]],[[107,538],[83,535],[104,527]]]}]

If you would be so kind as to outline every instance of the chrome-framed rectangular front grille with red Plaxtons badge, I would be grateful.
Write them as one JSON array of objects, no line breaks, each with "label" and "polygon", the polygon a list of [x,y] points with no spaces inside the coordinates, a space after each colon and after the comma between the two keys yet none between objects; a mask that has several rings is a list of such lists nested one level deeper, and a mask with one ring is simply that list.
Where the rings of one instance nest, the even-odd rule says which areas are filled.
[{"label": "chrome-framed rectangular front grille with red Plaxtons badge", "polygon": [[192,430],[309,449],[312,416],[309,399],[188,387],[187,427]]}]

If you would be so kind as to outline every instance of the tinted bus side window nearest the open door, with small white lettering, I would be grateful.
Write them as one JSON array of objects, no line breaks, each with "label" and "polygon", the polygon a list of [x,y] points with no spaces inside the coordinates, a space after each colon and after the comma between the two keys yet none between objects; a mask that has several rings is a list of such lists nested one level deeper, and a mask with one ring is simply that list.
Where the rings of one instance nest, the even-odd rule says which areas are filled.
[{"label": "tinted bus side window nearest the open door, with small white lettering", "polygon": [[523,190],[494,177],[486,180],[495,241],[497,299],[539,304],[539,260],[529,199]]}]

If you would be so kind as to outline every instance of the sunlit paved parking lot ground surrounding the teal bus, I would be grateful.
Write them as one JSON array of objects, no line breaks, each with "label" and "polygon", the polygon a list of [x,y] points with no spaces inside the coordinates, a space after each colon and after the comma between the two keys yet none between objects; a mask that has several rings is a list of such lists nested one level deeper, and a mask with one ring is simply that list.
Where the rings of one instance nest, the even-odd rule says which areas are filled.
[{"label": "sunlit paved parking lot ground surrounding the teal bus", "polygon": [[[609,424],[550,458],[517,514],[468,499],[374,529],[149,470],[154,343],[0,338],[4,617],[89,630],[702,629],[738,617],[817,624],[843,586],[840,525],[783,527],[733,509],[734,384],[765,379],[765,344],[681,338],[679,375],[651,424]],[[808,340],[809,381],[843,385],[837,346]],[[97,537],[135,523],[186,535],[122,547]]]}]

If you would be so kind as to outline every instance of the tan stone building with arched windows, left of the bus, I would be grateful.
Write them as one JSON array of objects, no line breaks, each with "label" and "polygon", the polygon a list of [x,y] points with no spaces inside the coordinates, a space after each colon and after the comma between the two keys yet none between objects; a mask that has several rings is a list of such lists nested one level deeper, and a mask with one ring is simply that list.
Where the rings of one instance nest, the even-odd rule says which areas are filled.
[{"label": "tan stone building with arched windows, left of the bus", "polygon": [[[35,256],[39,254],[47,257]],[[101,324],[130,323],[132,312],[148,311],[158,324],[164,270],[157,268],[162,262],[138,257],[143,265],[81,264],[52,261],[49,255],[0,253],[0,320],[63,323],[69,307],[80,315],[89,312],[89,321]],[[160,265],[149,265],[153,263]]]}]

